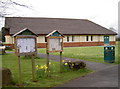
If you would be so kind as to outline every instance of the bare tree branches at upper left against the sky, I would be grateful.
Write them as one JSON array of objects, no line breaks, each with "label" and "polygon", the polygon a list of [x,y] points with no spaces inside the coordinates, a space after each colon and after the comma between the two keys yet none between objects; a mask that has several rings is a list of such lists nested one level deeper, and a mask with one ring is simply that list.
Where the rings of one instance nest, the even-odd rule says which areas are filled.
[{"label": "bare tree branches at upper left against the sky", "polygon": [[13,12],[8,12],[8,9],[10,9],[11,7],[15,8],[16,6],[32,9],[31,6],[18,3],[14,0],[0,0],[0,40],[2,40],[3,42],[4,42],[4,29],[2,29],[3,27],[2,24],[4,22],[4,17],[8,15],[14,15]]}]

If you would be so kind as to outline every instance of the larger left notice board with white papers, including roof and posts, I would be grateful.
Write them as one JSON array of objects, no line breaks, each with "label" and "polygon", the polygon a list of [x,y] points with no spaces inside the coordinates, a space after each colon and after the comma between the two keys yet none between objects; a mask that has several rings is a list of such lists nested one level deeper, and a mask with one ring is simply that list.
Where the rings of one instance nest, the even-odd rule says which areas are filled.
[{"label": "larger left notice board with white papers, including roof and posts", "polygon": [[35,60],[37,54],[36,34],[25,28],[14,34],[15,54],[18,56],[19,83],[21,84],[21,65],[20,56],[29,55],[32,57],[32,80],[35,81]]}]

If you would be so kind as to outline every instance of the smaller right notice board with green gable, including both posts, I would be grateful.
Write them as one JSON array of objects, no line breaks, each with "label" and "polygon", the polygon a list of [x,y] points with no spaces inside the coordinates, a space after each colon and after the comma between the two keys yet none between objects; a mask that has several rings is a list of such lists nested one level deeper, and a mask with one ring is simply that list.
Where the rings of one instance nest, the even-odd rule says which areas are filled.
[{"label": "smaller right notice board with green gable, including both posts", "polygon": [[63,38],[64,36],[57,30],[52,31],[47,36],[47,67],[49,70],[49,53],[60,52],[60,72],[62,72],[62,52],[63,52]]}]

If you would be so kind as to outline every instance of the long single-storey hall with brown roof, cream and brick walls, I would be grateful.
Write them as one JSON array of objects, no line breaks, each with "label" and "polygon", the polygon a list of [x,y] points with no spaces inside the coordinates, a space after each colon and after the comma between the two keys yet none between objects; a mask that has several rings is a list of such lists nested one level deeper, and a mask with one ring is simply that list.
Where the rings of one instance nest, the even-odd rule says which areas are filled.
[{"label": "long single-storey hall with brown roof, cream and brick walls", "polygon": [[[107,24],[107,23],[106,23]],[[64,35],[64,47],[115,45],[115,32],[87,19],[5,18],[6,45],[14,47],[13,35],[24,28],[37,34],[37,47],[46,47],[46,35],[57,30]]]}]

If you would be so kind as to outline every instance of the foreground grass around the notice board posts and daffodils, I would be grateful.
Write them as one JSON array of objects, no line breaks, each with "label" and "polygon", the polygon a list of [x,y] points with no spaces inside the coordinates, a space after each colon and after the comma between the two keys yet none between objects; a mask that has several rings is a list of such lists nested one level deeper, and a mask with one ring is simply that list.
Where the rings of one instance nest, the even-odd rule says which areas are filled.
[{"label": "foreground grass around the notice board posts and daffodils", "polygon": [[[37,58],[35,59],[36,65],[44,65],[45,59]],[[22,69],[22,82],[25,87],[52,87],[57,84],[62,84],[68,80],[84,76],[92,71],[88,69],[81,69],[80,71],[69,71],[65,73],[59,73],[59,63],[51,61],[55,64],[54,72],[51,77],[40,78],[38,82],[31,82],[31,60],[21,57],[21,69]],[[12,77],[15,83],[18,83],[18,60],[14,54],[5,54],[2,56],[3,68],[9,68],[12,72]]]}]

